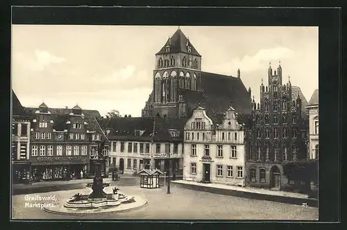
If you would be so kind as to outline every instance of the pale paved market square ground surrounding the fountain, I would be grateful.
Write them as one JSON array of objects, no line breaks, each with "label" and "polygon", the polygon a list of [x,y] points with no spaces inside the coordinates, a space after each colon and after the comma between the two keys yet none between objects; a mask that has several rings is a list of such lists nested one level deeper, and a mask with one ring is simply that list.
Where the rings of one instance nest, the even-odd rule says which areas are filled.
[{"label": "pale paved market square ground surrounding the fountain", "polygon": [[[14,219],[226,219],[226,220],[316,220],[318,209],[265,200],[249,200],[242,197],[192,191],[172,184],[171,194],[167,187],[148,190],[139,188],[136,179],[121,179],[117,184],[126,194],[137,194],[149,201],[142,209],[125,213],[92,216],[58,215],[39,208],[24,207],[24,195],[12,196]],[[122,186],[121,184],[124,184]],[[56,191],[32,195],[64,196],[71,191]],[[76,190],[78,193],[78,190]]]}]

